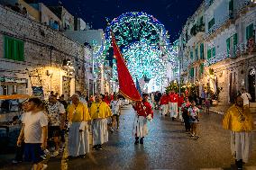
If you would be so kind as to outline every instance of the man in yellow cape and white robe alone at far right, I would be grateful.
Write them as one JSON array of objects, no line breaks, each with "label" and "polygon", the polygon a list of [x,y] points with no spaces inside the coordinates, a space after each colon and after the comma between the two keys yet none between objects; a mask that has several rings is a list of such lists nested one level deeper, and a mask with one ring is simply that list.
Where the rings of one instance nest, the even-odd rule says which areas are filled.
[{"label": "man in yellow cape and white robe alone at far right", "polygon": [[224,130],[231,130],[231,151],[235,165],[240,170],[251,155],[254,128],[251,112],[243,105],[241,95],[236,97],[235,103],[224,114],[223,127]]}]

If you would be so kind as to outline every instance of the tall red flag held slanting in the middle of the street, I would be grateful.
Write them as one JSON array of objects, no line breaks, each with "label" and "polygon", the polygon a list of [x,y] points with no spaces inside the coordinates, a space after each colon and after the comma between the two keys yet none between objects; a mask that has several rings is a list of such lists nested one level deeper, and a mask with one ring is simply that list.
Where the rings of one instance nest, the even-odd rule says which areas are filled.
[{"label": "tall red flag held slanting in the middle of the street", "polygon": [[116,59],[116,66],[117,66],[117,73],[118,73],[118,80],[119,80],[119,92],[123,94],[124,97],[134,101],[134,102],[141,102],[142,97],[139,94],[136,86],[133,82],[133,78],[130,75],[128,68],[126,67],[122,53],[118,48],[116,41],[114,39],[114,33],[111,32],[112,35],[112,46],[114,49],[114,56]]}]

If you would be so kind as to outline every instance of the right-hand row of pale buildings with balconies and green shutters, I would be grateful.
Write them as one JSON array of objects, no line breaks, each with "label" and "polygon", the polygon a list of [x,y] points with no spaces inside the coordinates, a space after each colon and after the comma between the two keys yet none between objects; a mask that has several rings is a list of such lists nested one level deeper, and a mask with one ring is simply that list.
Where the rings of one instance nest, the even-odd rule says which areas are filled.
[{"label": "right-hand row of pale buildings with balconies and green shutters", "polygon": [[[245,87],[255,102],[255,6],[251,0],[206,0],[198,9],[203,11],[206,23],[202,37],[197,39],[198,33],[188,36],[192,44],[197,44],[197,40],[200,44],[199,52],[193,52],[196,61],[192,62],[192,52],[187,52],[191,42],[186,41],[185,30],[189,30],[194,20],[187,21],[179,38],[182,77],[191,84],[197,84],[199,94],[209,87],[213,94],[219,95],[215,100],[233,103],[235,95]],[[200,54],[198,60],[197,53]]]}]

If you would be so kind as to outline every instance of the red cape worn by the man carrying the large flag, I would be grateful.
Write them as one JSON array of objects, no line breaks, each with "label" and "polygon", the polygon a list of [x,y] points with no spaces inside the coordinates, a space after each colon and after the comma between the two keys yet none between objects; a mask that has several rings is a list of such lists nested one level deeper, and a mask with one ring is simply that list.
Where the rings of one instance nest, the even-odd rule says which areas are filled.
[{"label": "red cape worn by the man carrying the large flag", "polygon": [[136,103],[136,105],[133,106],[133,109],[134,111],[137,112],[138,116],[147,117],[149,114],[151,114],[151,117],[153,118],[153,110],[151,107],[151,103],[148,103],[148,102]]}]

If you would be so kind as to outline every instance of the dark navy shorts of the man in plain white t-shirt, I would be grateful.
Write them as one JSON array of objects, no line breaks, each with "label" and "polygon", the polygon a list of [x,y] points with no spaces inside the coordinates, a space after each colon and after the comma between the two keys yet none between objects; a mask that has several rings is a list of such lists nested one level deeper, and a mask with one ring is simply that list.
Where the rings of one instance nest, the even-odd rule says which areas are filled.
[{"label": "dark navy shorts of the man in plain white t-shirt", "polygon": [[25,143],[24,145],[24,156],[25,161],[32,161],[33,164],[40,163],[44,153],[41,149],[41,143]]}]

